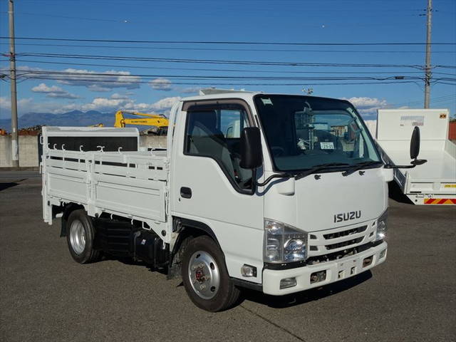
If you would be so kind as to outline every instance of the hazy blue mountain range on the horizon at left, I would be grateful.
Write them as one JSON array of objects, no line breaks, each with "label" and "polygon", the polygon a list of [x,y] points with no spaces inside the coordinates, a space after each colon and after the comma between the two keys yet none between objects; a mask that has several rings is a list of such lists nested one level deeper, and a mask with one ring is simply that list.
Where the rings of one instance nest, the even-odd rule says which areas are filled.
[{"label": "hazy blue mountain range on the horizon at left", "polygon": [[[105,126],[114,125],[114,113],[100,113],[96,110],[81,112],[73,110],[68,113],[27,113],[18,118],[19,129],[36,125],[48,126],[89,126],[103,123]],[[0,128],[11,130],[11,119],[0,119]]]}]

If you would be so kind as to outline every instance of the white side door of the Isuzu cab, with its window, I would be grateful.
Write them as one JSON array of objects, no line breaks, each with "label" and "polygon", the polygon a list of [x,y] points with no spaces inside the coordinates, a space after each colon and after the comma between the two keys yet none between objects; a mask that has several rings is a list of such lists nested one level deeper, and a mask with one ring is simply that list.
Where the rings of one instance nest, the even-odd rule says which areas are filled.
[{"label": "white side door of the Isuzu cab, with its window", "polygon": [[261,269],[263,259],[263,199],[251,194],[252,170],[239,167],[241,131],[252,122],[239,100],[184,103],[172,152],[172,214],[212,229],[239,278],[243,264]]}]

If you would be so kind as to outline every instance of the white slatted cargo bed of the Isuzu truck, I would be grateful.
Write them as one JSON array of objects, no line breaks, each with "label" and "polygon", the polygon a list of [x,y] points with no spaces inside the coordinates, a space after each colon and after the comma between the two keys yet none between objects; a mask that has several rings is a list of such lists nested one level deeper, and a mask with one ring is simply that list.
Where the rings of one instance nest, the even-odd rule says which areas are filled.
[{"label": "white slatted cargo bed of the Isuzu truck", "polygon": [[[117,147],[117,152],[104,152],[103,146],[84,151],[84,145],[79,145],[80,150],[66,150],[66,140],[73,138],[83,144],[88,143],[88,135],[96,136],[98,141],[115,137],[116,143],[122,144],[123,135],[138,138],[138,130],[64,128],[62,135],[62,129],[43,128],[43,198],[47,204],[43,206],[44,221],[52,224],[53,205],[73,202],[84,207],[90,216],[115,214],[145,222],[145,229],[160,233],[167,222],[166,151],[138,151],[138,145],[136,150],[126,152],[122,152],[122,146]],[[53,144],[51,148],[48,141],[56,136],[65,138],[61,145]],[[130,140],[126,140],[127,145],[133,149]]]}]

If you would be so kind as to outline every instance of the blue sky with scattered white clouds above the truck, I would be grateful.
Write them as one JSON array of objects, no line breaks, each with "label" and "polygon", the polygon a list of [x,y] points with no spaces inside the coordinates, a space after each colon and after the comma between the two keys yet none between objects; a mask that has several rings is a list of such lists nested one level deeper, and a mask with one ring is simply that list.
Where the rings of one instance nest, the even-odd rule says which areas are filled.
[{"label": "blue sky with scattered white clouds above the truck", "polygon": [[[435,12],[432,41],[455,44],[456,1],[434,0],[433,3]],[[422,14],[425,14],[426,4],[426,0],[16,0],[16,37],[128,41],[424,43],[425,16]],[[1,0],[0,36],[8,36],[7,11],[7,1]],[[1,52],[7,53],[8,41],[1,39],[0,43]],[[77,76],[68,80],[68,75],[54,80],[22,78],[18,84],[19,115],[29,112],[62,113],[75,109],[112,112],[119,108],[166,113],[175,98],[195,94],[198,88],[205,86],[200,83],[208,83],[207,86],[236,83],[233,86],[218,87],[297,94],[302,94],[303,88],[313,88],[314,95],[351,99],[366,117],[371,117],[370,113],[379,107],[423,106],[421,80],[410,80],[410,83],[395,81],[393,84],[379,84],[379,81],[375,84],[368,81],[372,84],[315,85],[314,83],[356,81],[284,79],[312,76],[423,77],[423,71],[405,66],[361,68],[164,63],[21,56],[21,53],[422,66],[425,60],[424,46],[252,46],[21,39],[18,39],[16,44],[17,68],[19,73],[28,71],[28,76],[37,76],[33,71],[110,74],[105,78],[95,76],[93,82],[81,82],[76,79]],[[456,45],[432,46],[432,65],[455,66],[455,51]],[[4,56],[0,58],[0,68],[9,68]],[[455,78],[456,69],[435,68],[434,73],[435,78]],[[114,76],[115,74],[119,76]],[[236,81],[189,80],[179,79],[179,76],[244,78]],[[279,80],[252,80],[258,76],[274,76]],[[40,77],[43,77],[42,73]],[[262,85],[252,86],[252,83]],[[274,85],[266,86],[264,83]],[[284,83],[296,84],[279,85]],[[450,108],[450,113],[455,114],[455,84],[435,83],[432,86],[432,108]],[[8,118],[9,83],[3,81],[0,87],[0,118]]]}]

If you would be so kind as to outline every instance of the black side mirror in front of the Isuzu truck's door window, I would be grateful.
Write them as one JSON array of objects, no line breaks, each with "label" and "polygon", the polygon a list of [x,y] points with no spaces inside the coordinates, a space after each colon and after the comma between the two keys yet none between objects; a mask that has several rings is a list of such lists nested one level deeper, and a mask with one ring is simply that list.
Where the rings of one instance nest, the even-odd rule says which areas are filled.
[{"label": "black side mirror in front of the Isuzu truck's door window", "polygon": [[243,169],[257,169],[263,164],[261,134],[257,127],[247,127],[241,133],[241,161]]}]

